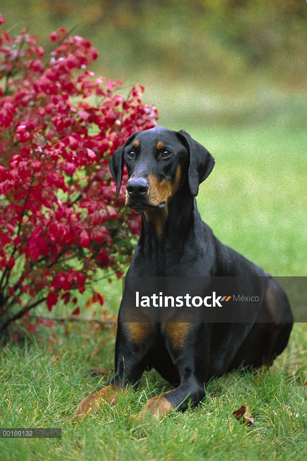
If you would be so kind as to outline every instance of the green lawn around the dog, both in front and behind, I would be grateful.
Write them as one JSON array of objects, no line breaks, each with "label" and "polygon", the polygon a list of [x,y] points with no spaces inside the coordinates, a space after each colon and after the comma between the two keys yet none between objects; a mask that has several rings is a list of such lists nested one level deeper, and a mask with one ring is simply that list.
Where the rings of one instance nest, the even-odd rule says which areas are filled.
[{"label": "green lawn around the dog, both in front and behind", "polygon": [[[198,196],[204,221],[223,243],[273,275],[306,275],[306,132],[185,128],[216,160]],[[111,308],[118,307],[120,284],[107,290]],[[2,349],[1,426],[62,428],[61,439],[0,439],[2,460],[307,459],[307,325],[295,325],[287,350],[268,372],[213,381],[196,409],[141,426],[129,420],[148,398],[169,389],[150,371],[116,407],[106,404],[74,423],[67,416],[82,397],[112,375],[114,343],[114,328],[64,324],[41,327],[25,344]],[[102,376],[91,376],[97,367]],[[242,405],[254,417],[251,427],[232,415]]]}]

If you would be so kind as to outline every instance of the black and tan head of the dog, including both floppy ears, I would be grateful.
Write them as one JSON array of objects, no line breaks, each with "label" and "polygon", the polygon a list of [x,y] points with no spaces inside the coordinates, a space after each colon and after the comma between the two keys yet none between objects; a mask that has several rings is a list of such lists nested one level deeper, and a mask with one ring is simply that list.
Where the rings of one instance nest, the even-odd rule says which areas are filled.
[{"label": "black and tan head of the dog, including both floppy ears", "polygon": [[117,196],[124,164],[128,173],[126,205],[145,211],[164,208],[186,179],[196,196],[212,171],[214,158],[186,131],[155,127],[131,135],[111,157],[109,168],[117,183]]}]

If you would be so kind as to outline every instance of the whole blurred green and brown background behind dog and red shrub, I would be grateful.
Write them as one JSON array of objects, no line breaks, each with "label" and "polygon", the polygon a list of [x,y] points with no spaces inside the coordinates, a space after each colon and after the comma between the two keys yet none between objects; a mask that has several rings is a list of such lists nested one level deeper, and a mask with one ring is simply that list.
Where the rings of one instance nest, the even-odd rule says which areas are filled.
[{"label": "whole blurred green and brown background behind dog and red shrub", "polygon": [[[216,166],[204,221],[273,275],[307,274],[307,3],[303,0],[2,0],[6,29],[73,28],[96,75],[145,86],[159,124],[185,129]],[[104,289],[102,289],[104,290]]]}]

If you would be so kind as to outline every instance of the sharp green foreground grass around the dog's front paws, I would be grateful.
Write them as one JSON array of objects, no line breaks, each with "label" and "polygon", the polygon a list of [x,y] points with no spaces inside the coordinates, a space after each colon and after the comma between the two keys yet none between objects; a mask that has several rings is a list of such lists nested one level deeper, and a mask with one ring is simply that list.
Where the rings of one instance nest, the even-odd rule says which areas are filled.
[{"label": "sharp green foreground grass around the dog's front paws", "polygon": [[[60,427],[62,438],[0,439],[2,460],[307,459],[306,325],[295,327],[287,351],[268,372],[228,374],[210,383],[198,408],[141,426],[129,416],[169,389],[155,372],[145,373],[139,390],[129,390],[116,407],[106,404],[78,424],[67,419],[99,385],[92,367],[106,367],[102,382],[112,373],[114,334],[72,327],[64,335],[59,328],[54,344],[10,343],[2,351],[0,411],[2,427]],[[252,427],[232,416],[242,405],[251,410]]]}]

